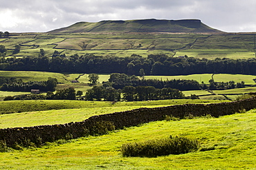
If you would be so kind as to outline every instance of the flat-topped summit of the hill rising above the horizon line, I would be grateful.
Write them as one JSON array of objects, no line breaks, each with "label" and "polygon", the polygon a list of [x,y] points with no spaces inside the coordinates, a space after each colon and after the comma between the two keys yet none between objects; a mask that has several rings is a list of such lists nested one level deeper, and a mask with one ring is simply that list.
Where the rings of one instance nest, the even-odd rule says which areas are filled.
[{"label": "flat-topped summit of the hill rising above the horizon line", "polygon": [[128,21],[79,22],[49,33],[82,32],[221,32],[210,28],[199,19],[158,20],[141,19]]}]

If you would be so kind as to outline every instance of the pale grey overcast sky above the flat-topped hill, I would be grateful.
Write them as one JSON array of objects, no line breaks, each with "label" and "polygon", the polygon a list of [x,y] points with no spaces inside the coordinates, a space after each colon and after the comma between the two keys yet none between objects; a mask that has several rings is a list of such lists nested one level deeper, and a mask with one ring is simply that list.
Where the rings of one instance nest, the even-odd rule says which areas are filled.
[{"label": "pale grey overcast sky above the flat-topped hill", "polygon": [[225,32],[256,32],[256,0],[0,0],[0,31],[47,32],[78,21],[201,19]]}]

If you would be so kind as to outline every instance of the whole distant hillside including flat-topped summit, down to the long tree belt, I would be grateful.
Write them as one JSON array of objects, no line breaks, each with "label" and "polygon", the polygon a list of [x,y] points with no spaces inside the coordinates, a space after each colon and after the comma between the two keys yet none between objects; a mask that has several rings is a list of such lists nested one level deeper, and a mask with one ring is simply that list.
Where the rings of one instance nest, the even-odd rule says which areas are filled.
[{"label": "whole distant hillside including flat-topped summit, down to the long tree belt", "polygon": [[[18,54],[12,54],[15,45]],[[57,50],[60,54],[96,54],[131,56],[167,54],[215,59],[248,59],[254,56],[254,34],[228,34],[214,30],[199,20],[131,20],[75,23],[47,33],[10,34],[0,39],[8,49],[7,56],[46,56]]]}]

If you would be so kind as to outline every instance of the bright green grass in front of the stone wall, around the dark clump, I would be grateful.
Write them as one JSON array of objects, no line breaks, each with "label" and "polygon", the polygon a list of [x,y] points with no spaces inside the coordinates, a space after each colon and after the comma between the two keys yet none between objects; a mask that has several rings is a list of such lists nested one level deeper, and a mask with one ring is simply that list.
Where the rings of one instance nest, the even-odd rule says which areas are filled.
[{"label": "bright green grass in front of the stone wall, around the dark clump", "polygon": [[[1,169],[255,169],[256,109],[220,118],[158,121],[98,137],[0,153]],[[225,129],[225,130],[224,130]],[[181,155],[124,158],[120,147],[167,136],[197,138],[201,148]],[[60,143],[59,143],[60,144]]]}]

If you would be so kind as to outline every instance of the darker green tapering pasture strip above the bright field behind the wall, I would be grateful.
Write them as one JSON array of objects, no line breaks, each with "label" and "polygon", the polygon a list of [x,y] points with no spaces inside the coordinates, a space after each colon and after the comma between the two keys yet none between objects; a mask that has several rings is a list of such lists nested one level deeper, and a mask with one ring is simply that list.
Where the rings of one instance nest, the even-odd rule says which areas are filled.
[{"label": "darker green tapering pasture strip above the bright field behind the wall", "polygon": [[[219,103],[219,100],[151,100],[141,102],[118,102],[114,105],[104,101],[84,100],[8,100],[0,101],[0,114],[21,113],[26,111],[44,111],[52,109],[81,109],[98,107],[149,107],[162,105],[182,105],[189,103]],[[1,122],[1,121],[0,121]]]}]

